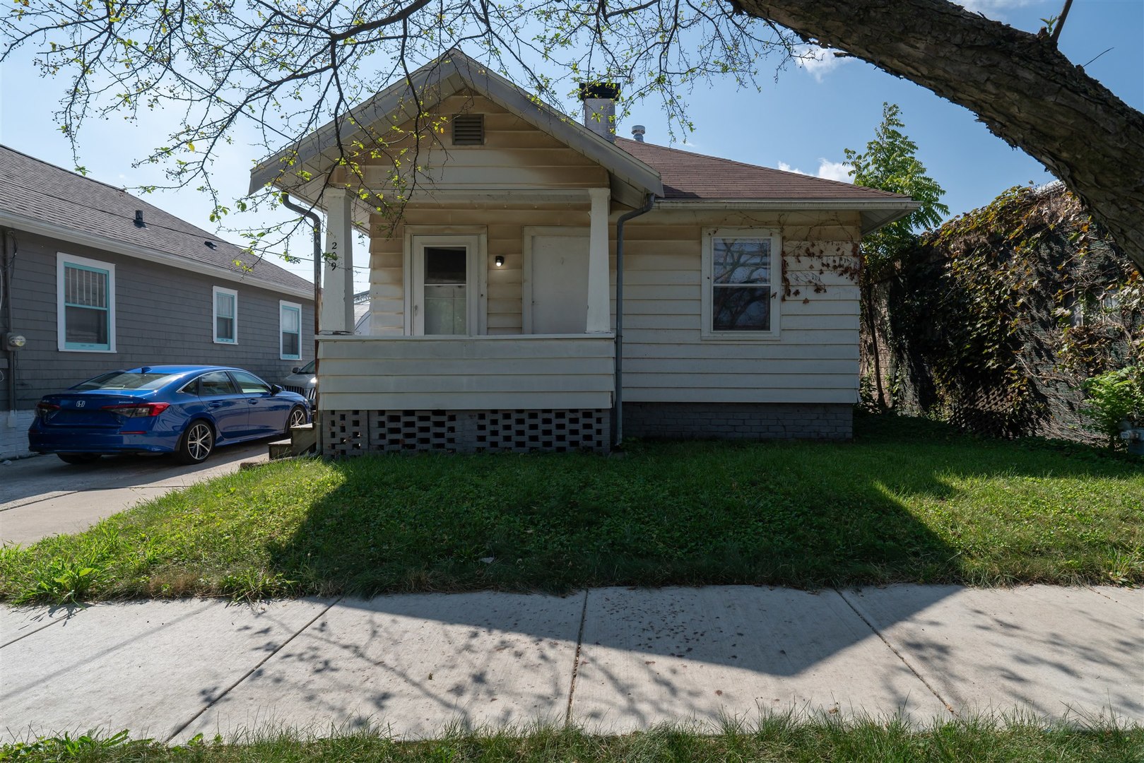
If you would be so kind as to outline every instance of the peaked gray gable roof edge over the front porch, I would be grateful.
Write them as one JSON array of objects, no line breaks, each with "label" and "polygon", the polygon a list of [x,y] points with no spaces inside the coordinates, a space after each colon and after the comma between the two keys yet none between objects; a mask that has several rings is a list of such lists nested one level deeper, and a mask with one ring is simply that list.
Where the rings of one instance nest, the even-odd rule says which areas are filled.
[{"label": "peaked gray gable roof edge over the front porch", "polygon": [[[348,130],[348,134],[341,136],[342,143],[349,144],[355,137],[360,138],[365,134],[360,128],[350,132],[345,124],[348,118],[352,118],[353,124],[372,126],[418,101],[430,105],[462,88],[471,88],[573,151],[596,161],[619,180],[641,191],[664,194],[659,173],[630,152],[618,149],[611,141],[596,135],[579,121],[539,101],[460,50],[450,50],[426,64],[413,72],[410,80],[418,98],[412,97],[408,82],[402,79],[350,109],[342,121],[342,129]],[[411,113],[410,117],[412,116]],[[251,193],[268,184],[279,188],[293,185],[293,182],[285,181],[289,174],[300,170],[310,175],[327,172],[336,159],[337,144],[337,126],[329,121],[294,145],[259,162],[251,170]]]}]

